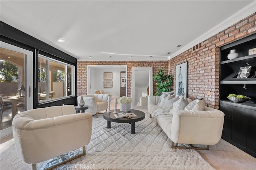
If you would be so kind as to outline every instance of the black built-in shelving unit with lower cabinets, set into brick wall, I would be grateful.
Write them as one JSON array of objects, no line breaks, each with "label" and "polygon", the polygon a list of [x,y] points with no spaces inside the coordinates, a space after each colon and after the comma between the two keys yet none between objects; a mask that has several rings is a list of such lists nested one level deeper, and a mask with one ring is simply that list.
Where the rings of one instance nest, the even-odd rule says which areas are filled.
[{"label": "black built-in shelving unit with lower cabinets, set into brick wall", "polygon": [[[249,50],[256,48],[256,33],[220,47],[220,104],[224,112],[222,138],[256,155],[256,54]],[[238,58],[228,60],[230,50],[236,50]],[[237,78],[241,67],[252,66],[248,78]],[[243,76],[244,77],[244,76]],[[234,103],[226,96],[243,95],[250,98],[244,103]]]}]

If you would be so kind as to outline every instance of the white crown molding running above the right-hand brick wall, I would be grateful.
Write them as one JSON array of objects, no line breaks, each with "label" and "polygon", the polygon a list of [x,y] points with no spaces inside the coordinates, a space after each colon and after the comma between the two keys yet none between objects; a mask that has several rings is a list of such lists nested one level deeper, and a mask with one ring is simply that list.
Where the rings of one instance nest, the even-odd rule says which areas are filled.
[{"label": "white crown molding running above the right-hand brick wall", "polygon": [[244,18],[250,16],[251,14],[256,12],[256,1],[252,2],[248,6],[244,7],[242,10],[238,11],[236,14],[232,15],[231,17],[227,18],[226,20],[222,21],[194,41],[188,43],[188,45],[185,45],[180,49],[179,51],[176,51],[172,55],[168,57],[168,60],[176,57],[177,55],[180,55],[184,51],[187,51],[188,49],[194,47],[195,45],[205,41],[206,39],[212,37],[213,35],[216,35],[217,33],[223,31],[224,29],[230,27],[231,25],[234,25],[235,23],[239,22],[240,20],[243,20]]}]

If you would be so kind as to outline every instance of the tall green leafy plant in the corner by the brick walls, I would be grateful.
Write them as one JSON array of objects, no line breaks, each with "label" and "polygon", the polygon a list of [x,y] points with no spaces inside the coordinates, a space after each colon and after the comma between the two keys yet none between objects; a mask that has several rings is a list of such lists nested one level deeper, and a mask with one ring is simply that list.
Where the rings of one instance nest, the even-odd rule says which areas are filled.
[{"label": "tall green leafy plant in the corner by the brick walls", "polygon": [[153,80],[158,82],[156,85],[157,92],[155,93],[156,96],[160,96],[162,92],[171,92],[172,91],[172,78],[173,75],[166,75],[164,74],[164,68],[158,69],[158,74],[153,76]]}]

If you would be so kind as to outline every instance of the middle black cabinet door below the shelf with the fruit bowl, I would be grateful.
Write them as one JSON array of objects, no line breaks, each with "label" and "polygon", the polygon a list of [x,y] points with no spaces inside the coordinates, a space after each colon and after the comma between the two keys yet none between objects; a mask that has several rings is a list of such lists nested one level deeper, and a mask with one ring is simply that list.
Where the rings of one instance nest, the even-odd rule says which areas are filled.
[{"label": "middle black cabinet door below the shelf with the fruit bowl", "polygon": [[232,140],[246,146],[247,109],[232,106]]}]

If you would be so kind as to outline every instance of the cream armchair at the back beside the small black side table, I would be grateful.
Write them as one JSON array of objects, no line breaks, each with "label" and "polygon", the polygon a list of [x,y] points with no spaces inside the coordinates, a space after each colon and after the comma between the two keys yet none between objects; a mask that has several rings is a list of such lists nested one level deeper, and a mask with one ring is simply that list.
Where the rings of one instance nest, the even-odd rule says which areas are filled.
[{"label": "cream armchair at the back beside the small black side table", "polygon": [[[84,100],[84,105],[88,106],[86,112],[98,114],[100,111],[108,109],[108,96],[109,94],[88,94],[82,95]],[[77,103],[80,100],[81,96],[77,97]]]}]

